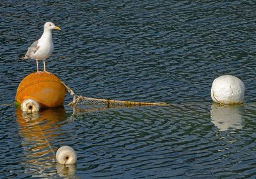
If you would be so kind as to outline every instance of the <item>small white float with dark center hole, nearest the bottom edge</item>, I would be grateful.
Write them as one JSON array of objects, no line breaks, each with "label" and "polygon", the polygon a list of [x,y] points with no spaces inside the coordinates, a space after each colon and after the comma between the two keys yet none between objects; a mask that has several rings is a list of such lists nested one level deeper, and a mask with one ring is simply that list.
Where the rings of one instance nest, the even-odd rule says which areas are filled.
[{"label": "small white float with dark center hole, nearest the bottom edge", "polygon": [[75,164],[76,159],[76,151],[72,147],[63,146],[57,150],[56,160],[60,164]]}]

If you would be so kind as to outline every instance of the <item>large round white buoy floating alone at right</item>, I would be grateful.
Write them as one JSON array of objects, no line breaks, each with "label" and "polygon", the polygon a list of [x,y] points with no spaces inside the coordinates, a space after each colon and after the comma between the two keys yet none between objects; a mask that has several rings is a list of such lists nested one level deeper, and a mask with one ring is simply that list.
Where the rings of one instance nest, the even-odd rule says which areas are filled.
[{"label": "large round white buoy floating alone at right", "polygon": [[223,75],[212,82],[211,97],[215,103],[239,104],[244,100],[244,83],[232,75]]}]

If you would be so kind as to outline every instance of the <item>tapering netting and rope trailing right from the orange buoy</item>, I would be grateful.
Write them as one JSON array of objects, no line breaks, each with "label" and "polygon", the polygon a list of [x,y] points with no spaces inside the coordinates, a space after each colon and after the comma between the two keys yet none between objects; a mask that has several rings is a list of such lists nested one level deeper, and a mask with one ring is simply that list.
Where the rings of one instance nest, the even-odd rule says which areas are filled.
[{"label": "tapering netting and rope trailing right from the orange buoy", "polygon": [[145,103],[145,102],[134,102],[134,101],[118,101],[113,99],[98,99],[92,97],[77,96],[70,87],[61,82],[73,96],[73,101],[70,102],[69,106],[76,108],[116,108],[116,107],[132,107],[132,106],[168,106],[166,103]]}]

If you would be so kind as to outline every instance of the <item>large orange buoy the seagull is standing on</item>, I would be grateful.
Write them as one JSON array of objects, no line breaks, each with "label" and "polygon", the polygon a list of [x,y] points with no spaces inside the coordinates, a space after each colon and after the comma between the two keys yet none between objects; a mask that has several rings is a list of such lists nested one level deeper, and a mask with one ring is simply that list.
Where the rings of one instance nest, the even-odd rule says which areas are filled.
[{"label": "large orange buoy the seagull is standing on", "polygon": [[19,84],[15,100],[22,103],[24,99],[34,99],[41,108],[61,106],[66,89],[60,78],[49,73],[31,73]]}]

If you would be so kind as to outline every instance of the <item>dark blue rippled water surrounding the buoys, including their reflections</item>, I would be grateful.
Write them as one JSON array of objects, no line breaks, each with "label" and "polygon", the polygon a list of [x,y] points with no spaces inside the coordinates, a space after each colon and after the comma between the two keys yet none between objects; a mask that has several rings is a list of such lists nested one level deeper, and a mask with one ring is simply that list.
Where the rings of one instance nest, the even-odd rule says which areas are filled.
[{"label": "dark blue rippled water surrounding the buoys, including their reflections", "polygon": [[[0,178],[256,178],[254,1],[1,1]],[[171,106],[34,115],[13,102],[36,71],[26,48],[53,32],[47,70],[76,94]],[[42,69],[42,64],[40,64]],[[211,101],[234,75],[245,103]],[[59,147],[77,164],[56,164]]]}]

